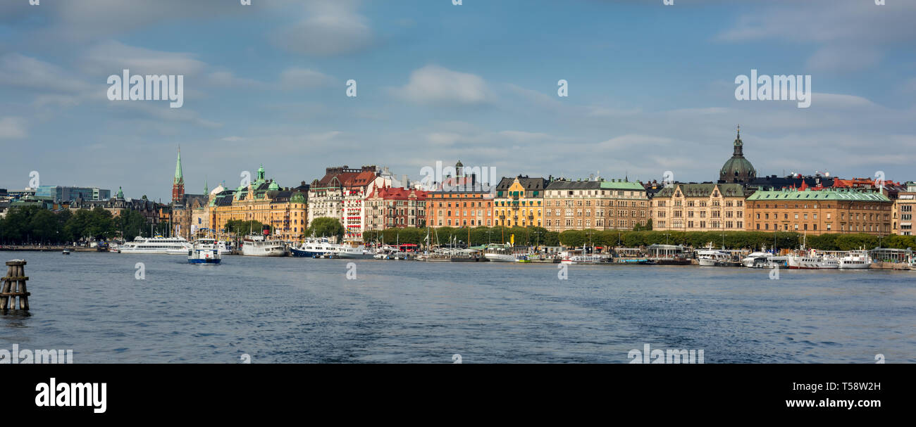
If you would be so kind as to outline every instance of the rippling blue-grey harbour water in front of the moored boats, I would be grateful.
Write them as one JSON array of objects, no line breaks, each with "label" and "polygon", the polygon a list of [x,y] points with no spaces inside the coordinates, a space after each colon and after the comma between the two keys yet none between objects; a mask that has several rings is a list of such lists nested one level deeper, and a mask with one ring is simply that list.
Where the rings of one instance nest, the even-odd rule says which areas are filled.
[{"label": "rippling blue-grey harbour water in front of the moored boats", "polygon": [[[607,362],[644,344],[706,363],[916,362],[916,272],[0,252],[30,315],[0,349],[76,363]],[[145,280],[136,280],[136,262]]]}]

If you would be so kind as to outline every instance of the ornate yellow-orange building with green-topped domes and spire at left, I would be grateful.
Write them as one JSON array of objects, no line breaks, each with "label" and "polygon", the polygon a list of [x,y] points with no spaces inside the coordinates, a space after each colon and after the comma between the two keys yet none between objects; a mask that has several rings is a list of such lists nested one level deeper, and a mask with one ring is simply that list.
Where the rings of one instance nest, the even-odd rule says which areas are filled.
[{"label": "ornate yellow-orange building with green-topped domes and spire at left", "polygon": [[[211,229],[223,232],[230,220],[255,220],[270,227],[274,237],[284,241],[301,241],[308,228],[309,186],[279,187],[267,179],[264,165],[247,186],[225,190],[222,186],[210,192],[208,205]],[[260,232],[260,230],[253,230]]]}]

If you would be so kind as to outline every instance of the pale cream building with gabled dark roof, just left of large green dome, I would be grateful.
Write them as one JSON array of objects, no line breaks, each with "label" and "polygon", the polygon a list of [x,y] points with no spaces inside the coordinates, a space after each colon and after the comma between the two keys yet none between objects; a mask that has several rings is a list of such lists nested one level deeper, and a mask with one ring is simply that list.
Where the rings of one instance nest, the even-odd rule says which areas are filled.
[{"label": "pale cream building with gabled dark roof, just left of large green dome", "polygon": [[674,183],[652,197],[652,230],[745,230],[741,184]]}]

